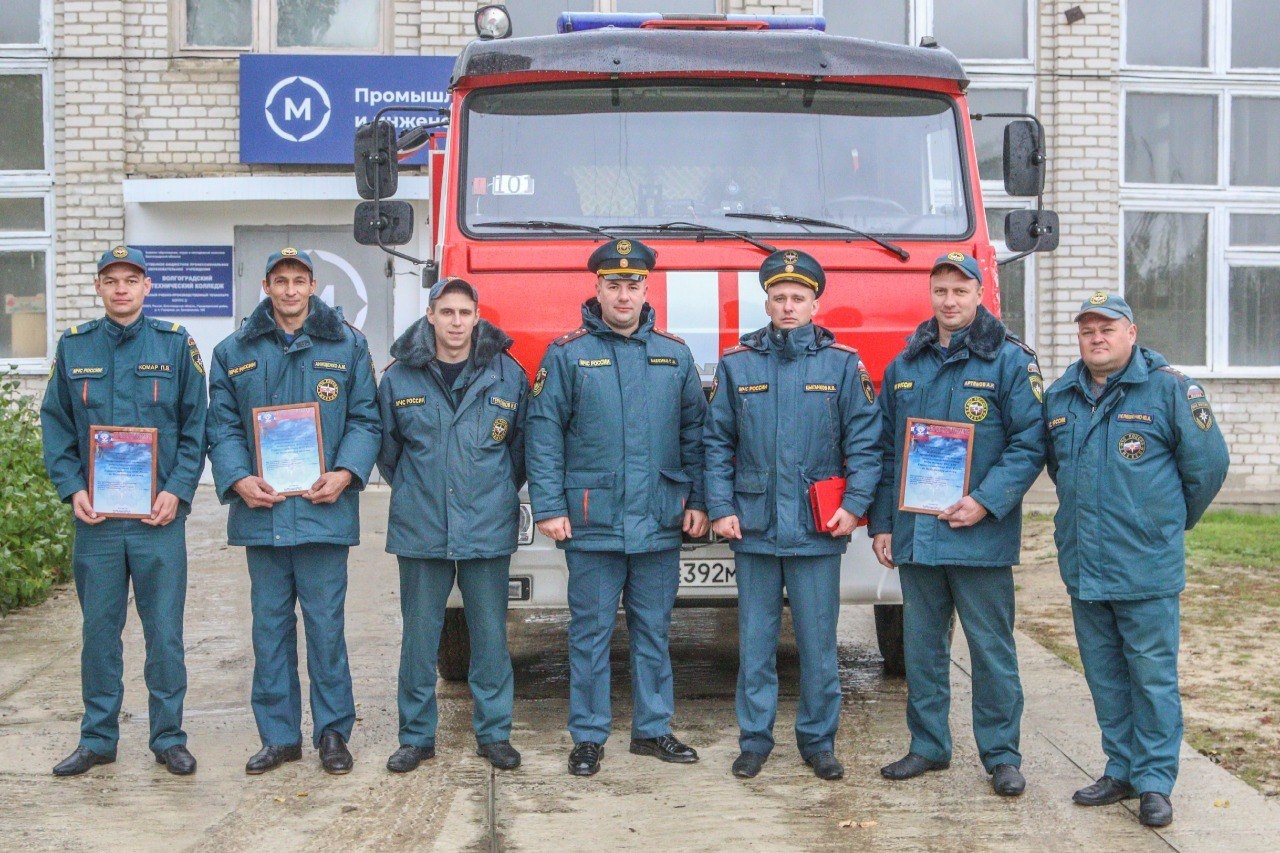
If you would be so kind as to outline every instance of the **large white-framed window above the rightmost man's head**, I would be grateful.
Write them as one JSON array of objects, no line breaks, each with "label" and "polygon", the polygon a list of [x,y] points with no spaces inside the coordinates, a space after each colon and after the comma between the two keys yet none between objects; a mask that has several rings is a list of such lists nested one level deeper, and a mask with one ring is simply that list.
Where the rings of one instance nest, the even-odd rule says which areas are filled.
[{"label": "large white-framed window above the rightmost man's head", "polygon": [[1280,5],[1126,0],[1123,280],[1144,343],[1280,369]]}]

